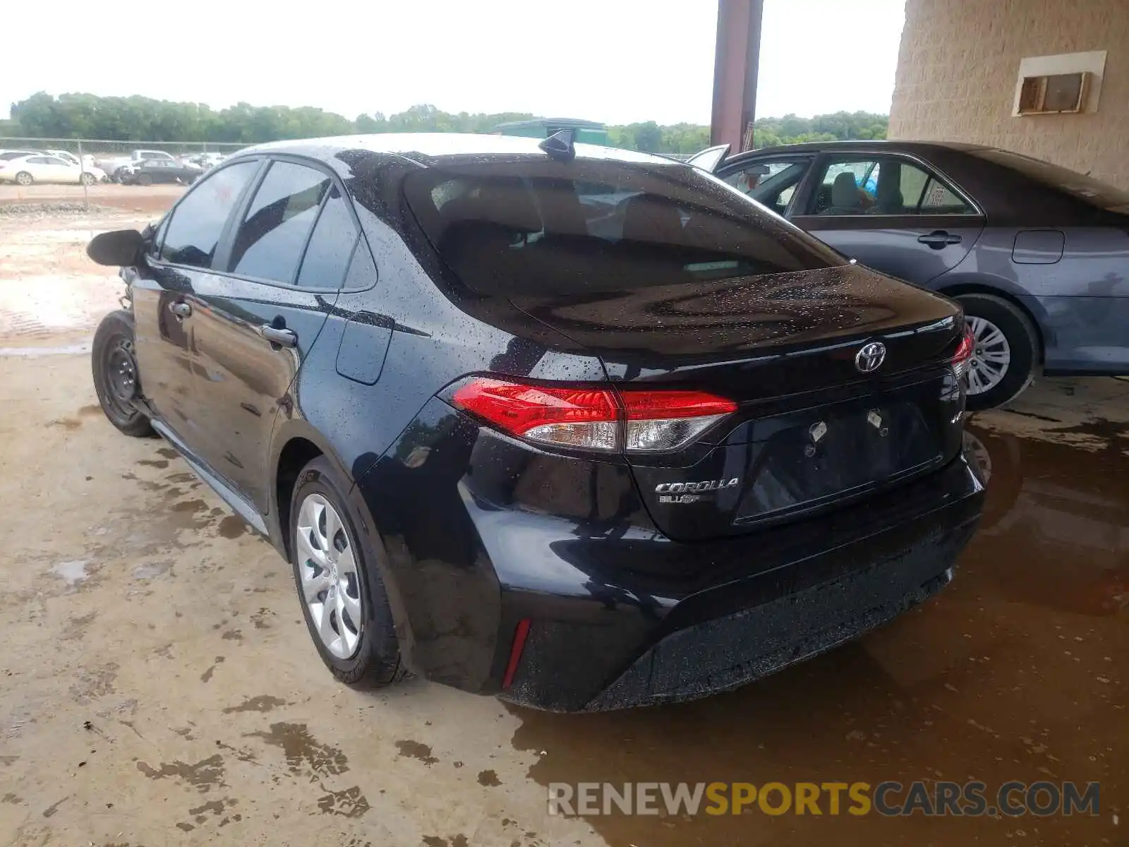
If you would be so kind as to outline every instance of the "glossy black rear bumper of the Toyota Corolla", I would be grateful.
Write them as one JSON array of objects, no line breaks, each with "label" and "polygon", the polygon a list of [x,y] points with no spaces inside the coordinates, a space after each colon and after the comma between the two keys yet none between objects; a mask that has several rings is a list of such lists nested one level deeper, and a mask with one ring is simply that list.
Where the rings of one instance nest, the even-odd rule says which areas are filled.
[{"label": "glossy black rear bumper of the Toyota Corolla", "polygon": [[590,472],[588,513],[532,509],[541,487],[523,495],[520,482],[499,505],[498,484],[541,460],[544,479],[555,460],[531,462],[465,420],[440,426],[450,418],[436,411],[420,431],[444,430],[439,455],[400,449],[409,461],[386,455],[358,480],[395,583],[401,650],[428,679],[541,709],[703,697],[855,638],[948,583],[983,506],[974,461],[957,456],[829,515],[679,543],[646,526],[614,466]]}]

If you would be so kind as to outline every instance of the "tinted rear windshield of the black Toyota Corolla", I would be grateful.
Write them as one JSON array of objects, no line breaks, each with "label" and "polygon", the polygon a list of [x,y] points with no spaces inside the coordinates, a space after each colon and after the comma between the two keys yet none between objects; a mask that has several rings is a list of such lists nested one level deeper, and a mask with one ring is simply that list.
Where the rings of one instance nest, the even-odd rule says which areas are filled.
[{"label": "tinted rear windshield of the black Toyota Corolla", "polygon": [[843,264],[680,164],[594,159],[431,167],[404,182],[428,239],[479,294],[622,291]]}]

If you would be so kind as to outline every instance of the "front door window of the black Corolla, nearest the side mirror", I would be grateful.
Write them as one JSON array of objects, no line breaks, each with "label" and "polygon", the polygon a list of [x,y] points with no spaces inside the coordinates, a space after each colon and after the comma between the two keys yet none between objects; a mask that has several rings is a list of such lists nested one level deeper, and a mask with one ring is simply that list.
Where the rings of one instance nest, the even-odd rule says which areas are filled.
[{"label": "front door window of the black Corolla, nearest the side mirror", "polygon": [[160,257],[175,264],[211,268],[224,225],[257,169],[257,161],[239,161],[196,183],[173,210]]}]

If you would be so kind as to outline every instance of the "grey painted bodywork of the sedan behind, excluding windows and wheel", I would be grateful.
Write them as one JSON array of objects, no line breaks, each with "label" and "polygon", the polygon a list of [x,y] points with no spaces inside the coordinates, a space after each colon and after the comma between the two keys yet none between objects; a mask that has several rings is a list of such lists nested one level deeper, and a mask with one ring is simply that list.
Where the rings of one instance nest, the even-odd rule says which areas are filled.
[{"label": "grey painted bodywork of the sedan behind, excluding windows and wheel", "polygon": [[[926,141],[839,141],[762,148],[726,159],[727,175],[760,159],[811,157],[789,218],[842,253],[900,279],[959,296],[995,294],[1018,303],[1038,328],[1050,375],[1129,370],[1129,215],[1053,190],[979,158],[975,146]],[[979,207],[975,215],[802,215],[815,175],[834,157],[924,163]],[[960,241],[929,248],[933,232]],[[1059,246],[1048,247],[1047,235]],[[1027,251],[1030,241],[1042,250]]]}]

